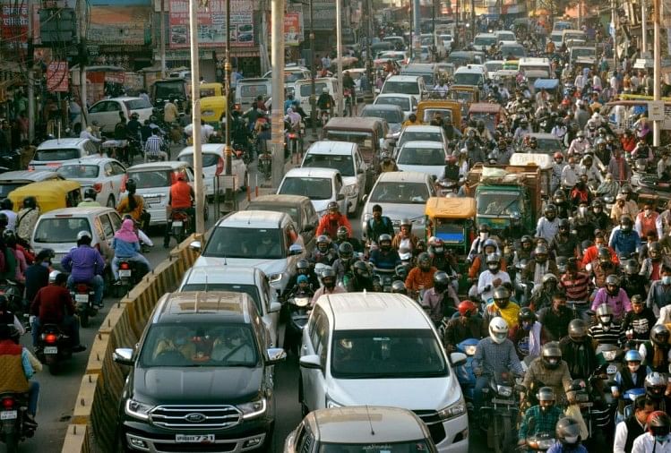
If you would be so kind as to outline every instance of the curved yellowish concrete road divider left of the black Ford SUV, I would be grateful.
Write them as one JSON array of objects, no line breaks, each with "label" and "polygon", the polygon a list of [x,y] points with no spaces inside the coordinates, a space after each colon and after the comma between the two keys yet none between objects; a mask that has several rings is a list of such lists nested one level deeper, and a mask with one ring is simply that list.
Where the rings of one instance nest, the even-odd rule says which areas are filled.
[{"label": "curved yellowish concrete road divider left of the black Ford SUV", "polygon": [[198,258],[198,252],[189,248],[194,240],[202,237],[192,235],[171,250],[168,258],[116,303],[102,322],[90,349],[63,453],[116,451],[116,415],[129,370],[114,363],[112,353],[117,347],[131,347],[139,341],[159,298],[176,289]]}]

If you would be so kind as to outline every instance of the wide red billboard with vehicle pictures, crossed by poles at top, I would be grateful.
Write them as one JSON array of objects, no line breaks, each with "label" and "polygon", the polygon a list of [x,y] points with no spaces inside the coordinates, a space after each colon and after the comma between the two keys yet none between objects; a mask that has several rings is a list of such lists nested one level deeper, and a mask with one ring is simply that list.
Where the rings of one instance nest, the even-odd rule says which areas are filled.
[{"label": "wide red billboard with vehicle pictures, crossed by poles at top", "polygon": [[[254,46],[253,5],[249,0],[230,0],[230,45]],[[189,2],[170,0],[170,48],[189,47]],[[211,0],[198,8],[199,47],[226,46],[226,1]]]}]

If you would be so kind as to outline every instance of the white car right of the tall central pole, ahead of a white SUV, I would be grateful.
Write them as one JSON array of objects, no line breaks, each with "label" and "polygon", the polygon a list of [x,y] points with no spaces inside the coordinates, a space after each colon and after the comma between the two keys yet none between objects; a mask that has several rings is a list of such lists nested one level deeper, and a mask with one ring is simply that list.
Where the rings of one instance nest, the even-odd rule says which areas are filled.
[{"label": "white car right of the tall central pole, ahead of a white SUV", "polygon": [[337,201],[340,212],[348,211],[348,201],[342,193],[344,182],[338,170],[332,168],[292,168],[277,190],[279,195],[303,195],[312,201],[320,218],[326,214],[331,201]]}]

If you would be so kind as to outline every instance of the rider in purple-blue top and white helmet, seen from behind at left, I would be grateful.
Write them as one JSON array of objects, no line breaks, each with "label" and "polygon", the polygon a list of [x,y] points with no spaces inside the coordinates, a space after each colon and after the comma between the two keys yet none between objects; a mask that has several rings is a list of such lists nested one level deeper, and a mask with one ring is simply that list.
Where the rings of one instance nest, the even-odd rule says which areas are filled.
[{"label": "rider in purple-blue top and white helmet, seen from behind at left", "polygon": [[105,282],[102,274],[105,271],[105,259],[98,249],[90,246],[90,233],[82,230],[77,234],[77,247],[68,252],[61,260],[61,266],[66,272],[71,272],[67,278],[67,286],[73,288],[76,283],[86,283],[93,287],[95,292],[93,305],[102,308],[102,291]]}]

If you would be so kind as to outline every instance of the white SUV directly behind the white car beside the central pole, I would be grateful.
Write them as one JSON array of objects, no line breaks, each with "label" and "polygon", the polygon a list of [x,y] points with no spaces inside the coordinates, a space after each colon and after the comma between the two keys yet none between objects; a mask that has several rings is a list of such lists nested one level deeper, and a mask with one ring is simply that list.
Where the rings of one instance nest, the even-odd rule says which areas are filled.
[{"label": "white SUV directly behind the white car beside the central pole", "polygon": [[342,192],[347,197],[348,214],[355,215],[366,192],[368,164],[361,157],[357,143],[348,141],[315,141],[305,153],[301,168],[334,168],[342,175]]}]

